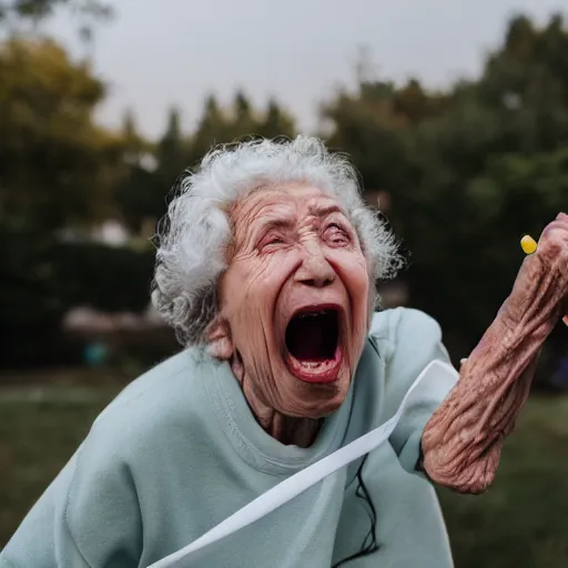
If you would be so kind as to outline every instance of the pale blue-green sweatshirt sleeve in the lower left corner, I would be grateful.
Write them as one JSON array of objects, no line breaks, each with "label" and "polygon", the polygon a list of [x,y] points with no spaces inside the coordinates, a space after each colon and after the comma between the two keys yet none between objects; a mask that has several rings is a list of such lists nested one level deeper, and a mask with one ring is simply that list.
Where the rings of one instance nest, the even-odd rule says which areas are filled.
[{"label": "pale blue-green sweatshirt sleeve in the lower left corner", "polygon": [[91,432],[0,552],[0,568],[138,567],[141,515],[122,454]]}]

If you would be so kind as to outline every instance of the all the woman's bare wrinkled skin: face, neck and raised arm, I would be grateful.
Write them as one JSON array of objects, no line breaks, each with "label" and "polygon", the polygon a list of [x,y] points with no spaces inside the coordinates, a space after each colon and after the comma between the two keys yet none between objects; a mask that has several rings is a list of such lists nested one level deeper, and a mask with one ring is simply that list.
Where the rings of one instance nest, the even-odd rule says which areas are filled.
[{"label": "all the woman's bare wrinkled skin: face, neck and raised arm", "polygon": [[[324,211],[328,210],[328,211]],[[321,418],[345,399],[368,327],[368,266],[338,203],[316,187],[255,191],[230,211],[229,268],[210,353],[231,362],[263,428],[284,444],[310,446]],[[343,358],[325,384],[300,381],[285,358],[285,328],[298,307],[338,305]],[[568,310],[568,216],[544,231],[514,288],[459,381],[427,423],[423,468],[440,485],[481,493],[491,484],[542,343]]]}]

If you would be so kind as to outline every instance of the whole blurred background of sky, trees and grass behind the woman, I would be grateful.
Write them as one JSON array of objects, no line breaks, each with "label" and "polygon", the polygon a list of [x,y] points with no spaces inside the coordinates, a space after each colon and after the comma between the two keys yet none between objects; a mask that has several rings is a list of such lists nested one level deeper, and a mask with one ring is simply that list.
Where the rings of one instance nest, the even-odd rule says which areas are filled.
[{"label": "whole blurred background of sky, trees and grass behind the woman", "polygon": [[[0,0],[0,547],[130,381],[179,349],[149,306],[169,190],[213,143],[352,154],[410,267],[382,287],[467,356],[568,212],[568,20],[545,0]],[[457,568],[568,566],[568,328]],[[427,519],[425,519],[425,523]]]}]

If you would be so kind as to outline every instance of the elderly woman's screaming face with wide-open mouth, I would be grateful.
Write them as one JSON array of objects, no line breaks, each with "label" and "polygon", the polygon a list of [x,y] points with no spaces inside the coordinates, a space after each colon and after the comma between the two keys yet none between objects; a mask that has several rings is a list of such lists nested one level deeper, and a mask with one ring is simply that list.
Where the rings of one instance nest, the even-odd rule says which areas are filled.
[{"label": "elderly woman's screaming face with wide-open mouth", "polygon": [[320,418],[345,399],[368,323],[368,267],[339,203],[317,187],[258,190],[231,212],[220,312],[255,396]]}]

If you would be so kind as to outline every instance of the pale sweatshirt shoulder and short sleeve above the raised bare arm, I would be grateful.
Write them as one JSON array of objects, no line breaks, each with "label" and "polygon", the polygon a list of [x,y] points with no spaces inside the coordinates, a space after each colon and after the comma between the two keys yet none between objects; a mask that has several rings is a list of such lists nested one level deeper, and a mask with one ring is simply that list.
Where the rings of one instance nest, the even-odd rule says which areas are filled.
[{"label": "pale sweatshirt shoulder and short sleeve above the raised bare arm", "polygon": [[[450,361],[442,342],[438,323],[424,312],[397,308],[378,315],[381,317],[375,316],[373,322],[372,335],[386,358],[384,418],[388,419],[429,363],[435,359],[444,363]],[[390,445],[407,471],[422,474],[422,433],[449,390],[446,381],[432,382],[427,388],[420,388],[390,435]]]}]

